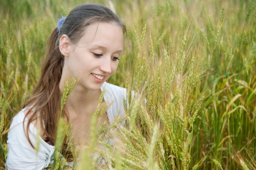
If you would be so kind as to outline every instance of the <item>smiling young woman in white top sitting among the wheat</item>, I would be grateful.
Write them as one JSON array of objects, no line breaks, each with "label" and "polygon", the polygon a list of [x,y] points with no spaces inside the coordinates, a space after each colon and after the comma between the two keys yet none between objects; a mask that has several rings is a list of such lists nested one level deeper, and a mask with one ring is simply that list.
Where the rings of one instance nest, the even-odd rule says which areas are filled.
[{"label": "smiling young woman in white top sitting among the wheat", "polygon": [[[61,94],[69,78],[79,80],[68,96],[62,116],[73,125],[74,144],[88,139],[91,116],[105,89],[109,108],[99,124],[124,116],[124,88],[105,82],[118,67],[126,28],[110,9],[80,5],[62,17],[50,35],[41,77],[8,132],[8,169],[43,169],[52,163]],[[35,150],[37,134],[39,151]]]}]

